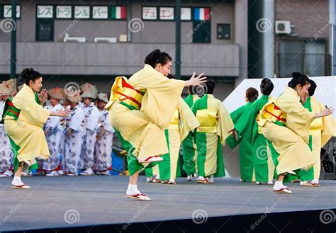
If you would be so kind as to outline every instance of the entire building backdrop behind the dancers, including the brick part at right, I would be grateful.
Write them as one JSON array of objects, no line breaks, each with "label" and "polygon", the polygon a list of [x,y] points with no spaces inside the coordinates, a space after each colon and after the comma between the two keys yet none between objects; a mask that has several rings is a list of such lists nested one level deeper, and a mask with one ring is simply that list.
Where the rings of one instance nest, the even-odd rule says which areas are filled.
[{"label": "entire building backdrop behind the dancers, including the brick part at right", "polygon": [[[0,3],[0,79],[9,79],[10,0]],[[109,91],[159,48],[175,58],[181,16],[181,78],[205,72],[224,99],[245,78],[336,73],[335,0],[18,1],[17,68],[45,86],[86,81]],[[175,73],[174,65],[172,73]],[[242,94],[243,95],[243,94]],[[243,98],[243,96],[242,96]]]}]

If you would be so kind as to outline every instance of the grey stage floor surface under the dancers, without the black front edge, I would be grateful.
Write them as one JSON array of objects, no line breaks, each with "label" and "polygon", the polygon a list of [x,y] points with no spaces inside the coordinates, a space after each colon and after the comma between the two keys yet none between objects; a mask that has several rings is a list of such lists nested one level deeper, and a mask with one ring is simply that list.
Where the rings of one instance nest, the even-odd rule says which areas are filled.
[{"label": "grey stage floor surface under the dancers, without the black front edge", "polygon": [[233,178],[213,184],[179,178],[169,186],[141,177],[140,191],[152,202],[125,198],[127,181],[126,176],[33,176],[23,178],[30,190],[13,190],[11,178],[0,178],[0,232],[336,208],[336,181],[321,181],[320,188],[289,184],[294,193],[279,194],[272,186]]}]

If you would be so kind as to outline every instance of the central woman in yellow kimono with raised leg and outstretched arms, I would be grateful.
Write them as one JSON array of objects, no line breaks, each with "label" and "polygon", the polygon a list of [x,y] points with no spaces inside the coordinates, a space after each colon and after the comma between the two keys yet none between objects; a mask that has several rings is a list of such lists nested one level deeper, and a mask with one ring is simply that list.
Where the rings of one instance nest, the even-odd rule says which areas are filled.
[{"label": "central woman in yellow kimono with raised leg and outstretched arms", "polygon": [[[168,147],[164,129],[169,127],[184,86],[201,85],[203,74],[188,81],[168,79],[172,57],[155,50],[147,55],[145,67],[130,79],[117,77],[106,105],[111,125],[128,152],[130,182],[126,196],[150,200],[137,187],[144,164],[162,161]],[[153,68],[154,67],[154,68]]]}]

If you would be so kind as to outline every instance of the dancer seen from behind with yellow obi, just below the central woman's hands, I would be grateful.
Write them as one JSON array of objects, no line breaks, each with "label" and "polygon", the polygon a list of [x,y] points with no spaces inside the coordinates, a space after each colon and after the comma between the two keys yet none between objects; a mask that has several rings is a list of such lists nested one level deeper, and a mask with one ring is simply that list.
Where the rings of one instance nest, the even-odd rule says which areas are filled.
[{"label": "dancer seen from behind with yellow obi, just below the central woman's hands", "polygon": [[196,130],[198,183],[213,183],[213,177],[225,176],[222,147],[233,132],[233,121],[222,101],[213,96],[215,82],[206,82],[206,94],[191,107],[201,124]]}]

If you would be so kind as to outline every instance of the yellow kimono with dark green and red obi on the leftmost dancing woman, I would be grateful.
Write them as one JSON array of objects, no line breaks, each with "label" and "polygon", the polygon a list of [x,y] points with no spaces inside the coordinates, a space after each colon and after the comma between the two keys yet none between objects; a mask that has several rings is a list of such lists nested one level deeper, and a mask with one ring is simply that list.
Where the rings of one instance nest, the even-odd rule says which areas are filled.
[{"label": "yellow kimono with dark green and red obi on the leftmost dancing woman", "polygon": [[13,99],[6,101],[4,128],[14,150],[15,170],[21,161],[35,164],[36,157],[47,159],[49,149],[43,132],[50,110],[36,102],[36,96],[26,84]]}]

